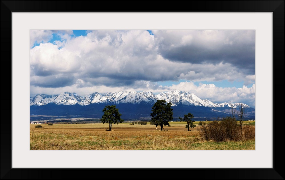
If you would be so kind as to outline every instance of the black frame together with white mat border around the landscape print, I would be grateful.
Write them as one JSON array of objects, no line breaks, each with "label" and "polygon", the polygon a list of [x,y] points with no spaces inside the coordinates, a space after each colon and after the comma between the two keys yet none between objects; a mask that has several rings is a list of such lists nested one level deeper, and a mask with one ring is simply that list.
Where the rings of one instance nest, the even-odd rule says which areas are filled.
[{"label": "black frame together with white mat border around the landscape print", "polygon": [[[187,1],[192,6],[181,11],[95,11],[91,2],[1,1],[2,37],[11,33],[1,38],[2,67],[11,67],[11,117],[2,118],[1,129],[1,179],[89,179],[90,172],[101,173],[99,179],[284,179],[284,153],[276,151],[284,146],[278,143],[284,142],[284,121],[275,121],[283,109],[274,104],[274,83],[284,78],[284,1]],[[35,81],[30,75],[35,42],[30,32],[35,30],[254,32],[255,150],[31,150],[26,122],[28,94],[34,90],[30,82]],[[240,48],[240,56],[245,55],[246,48]],[[11,61],[4,60],[7,54]],[[139,178],[117,174],[130,171]],[[163,172],[173,174],[164,177]]]}]

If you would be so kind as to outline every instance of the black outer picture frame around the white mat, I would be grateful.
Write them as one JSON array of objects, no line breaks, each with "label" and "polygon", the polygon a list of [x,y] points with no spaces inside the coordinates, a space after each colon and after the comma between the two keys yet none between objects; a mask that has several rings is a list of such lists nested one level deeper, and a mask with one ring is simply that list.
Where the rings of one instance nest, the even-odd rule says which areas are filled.
[{"label": "black outer picture frame around the white mat", "polygon": [[[232,12],[255,11],[273,12],[273,168],[239,168],[239,169],[187,169],[187,168],[110,168],[110,169],[12,169],[11,168],[11,131],[12,131],[12,60],[11,60],[11,22],[13,11],[118,11],[110,10],[110,1],[5,1],[1,0],[1,63],[2,72],[6,74],[11,70],[11,86],[2,86],[2,118],[1,118],[1,179],[284,179],[284,9],[285,1],[158,1],[166,7],[164,12],[171,11],[198,11],[198,12]],[[130,3],[129,1],[128,3]],[[93,3],[97,4],[96,6]],[[132,11],[158,11],[154,1],[132,1],[140,3],[139,7],[133,7]],[[112,2],[113,7],[120,7],[122,1]],[[125,3],[123,3],[125,4]],[[187,6],[186,6],[187,5]],[[169,8],[171,7],[171,8]],[[162,8],[161,8],[162,9]],[[171,10],[170,10],[171,9]],[[119,10],[127,11],[127,10]],[[9,34],[11,36],[9,36]],[[3,64],[4,63],[4,64]],[[7,77],[2,74],[2,83]],[[276,83],[275,83],[276,82]],[[9,82],[8,82],[9,84]],[[274,85],[277,88],[274,88]],[[282,86],[280,86],[282,84]],[[278,88],[281,87],[281,88]],[[282,92],[278,90],[282,89]],[[5,93],[5,94],[4,94]],[[6,94],[11,94],[11,97]],[[4,95],[4,96],[3,96]],[[280,97],[281,96],[281,97]],[[275,100],[276,97],[276,100]],[[278,100],[282,105],[277,104]],[[9,104],[9,102],[11,104]],[[7,103],[7,104],[6,104]],[[11,113],[6,112],[10,105]],[[11,138],[10,138],[11,137]],[[184,157],[184,155],[182,155]],[[154,154],[153,158],[159,155]],[[186,159],[191,163],[191,158]]]}]

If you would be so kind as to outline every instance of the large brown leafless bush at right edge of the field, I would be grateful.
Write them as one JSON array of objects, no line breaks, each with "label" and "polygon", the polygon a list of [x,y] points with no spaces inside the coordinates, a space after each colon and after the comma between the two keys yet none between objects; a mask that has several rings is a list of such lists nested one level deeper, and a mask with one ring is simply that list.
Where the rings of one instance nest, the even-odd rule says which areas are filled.
[{"label": "large brown leafless bush at right edge of the field", "polygon": [[247,128],[241,130],[237,120],[231,117],[223,118],[221,121],[211,121],[208,124],[203,122],[200,130],[201,139],[206,141],[221,142],[255,139],[255,126],[247,126]]}]

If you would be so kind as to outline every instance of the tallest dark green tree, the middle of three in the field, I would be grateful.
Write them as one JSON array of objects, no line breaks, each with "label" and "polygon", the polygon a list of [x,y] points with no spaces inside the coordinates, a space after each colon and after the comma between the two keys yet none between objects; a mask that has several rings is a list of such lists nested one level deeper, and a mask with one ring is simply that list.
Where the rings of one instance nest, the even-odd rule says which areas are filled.
[{"label": "tallest dark green tree, the middle of three in the field", "polygon": [[166,100],[157,100],[152,106],[152,117],[150,122],[156,127],[160,126],[160,131],[162,131],[163,125],[170,126],[169,121],[173,120],[173,109],[171,108],[172,103],[166,102]]}]

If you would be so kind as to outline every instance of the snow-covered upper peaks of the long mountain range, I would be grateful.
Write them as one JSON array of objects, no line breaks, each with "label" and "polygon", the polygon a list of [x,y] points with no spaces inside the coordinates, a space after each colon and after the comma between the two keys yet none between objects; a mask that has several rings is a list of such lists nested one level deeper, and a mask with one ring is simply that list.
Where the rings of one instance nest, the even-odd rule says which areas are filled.
[{"label": "snow-covered upper peaks of the long mountain range", "polygon": [[[209,108],[217,107],[229,107],[236,108],[240,103],[221,103],[217,104],[209,100],[202,100],[195,94],[185,91],[169,91],[162,92],[154,95],[152,92],[135,92],[135,91],[120,91],[120,92],[107,92],[99,94],[97,92],[88,94],[87,96],[79,96],[75,92],[64,92],[58,95],[46,95],[37,94],[34,97],[30,97],[30,106],[42,106],[46,104],[58,104],[58,105],[75,105],[79,104],[86,106],[89,104],[154,104],[157,100],[166,100],[171,102],[172,106],[187,105],[187,106],[204,106]],[[250,108],[248,105],[243,104],[245,108]]]}]

